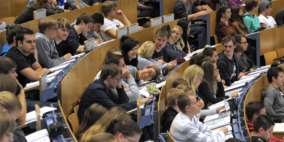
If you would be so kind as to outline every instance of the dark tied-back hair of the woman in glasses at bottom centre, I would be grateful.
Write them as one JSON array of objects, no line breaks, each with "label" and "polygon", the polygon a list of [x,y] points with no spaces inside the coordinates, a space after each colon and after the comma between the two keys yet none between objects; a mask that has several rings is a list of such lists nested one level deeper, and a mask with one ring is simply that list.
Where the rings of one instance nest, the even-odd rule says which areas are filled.
[{"label": "dark tied-back hair of the woman in glasses at bottom centre", "polygon": [[126,137],[135,137],[137,135],[141,136],[142,130],[139,125],[132,119],[114,119],[106,128],[106,133],[110,133],[113,136],[121,133]]}]

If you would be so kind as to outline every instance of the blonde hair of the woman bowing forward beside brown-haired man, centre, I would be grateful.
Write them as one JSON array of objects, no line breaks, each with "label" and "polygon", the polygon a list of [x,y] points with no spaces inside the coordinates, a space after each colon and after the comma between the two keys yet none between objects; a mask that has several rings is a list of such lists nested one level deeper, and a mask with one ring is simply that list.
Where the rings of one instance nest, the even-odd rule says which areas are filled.
[{"label": "blonde hair of the woman bowing forward beside brown-haired man, centre", "polygon": [[151,58],[154,54],[154,43],[152,41],[146,41],[144,42],[137,52],[138,56],[141,56],[142,58]]}]

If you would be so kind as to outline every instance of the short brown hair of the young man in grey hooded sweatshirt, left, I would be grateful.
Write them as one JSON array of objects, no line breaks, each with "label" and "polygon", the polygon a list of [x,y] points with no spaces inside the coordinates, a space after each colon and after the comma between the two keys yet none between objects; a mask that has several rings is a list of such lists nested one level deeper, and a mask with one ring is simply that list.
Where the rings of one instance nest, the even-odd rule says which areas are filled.
[{"label": "short brown hair of the young man in grey hooded sweatshirt, left", "polygon": [[54,18],[44,17],[38,22],[38,30],[44,34],[46,29],[58,26],[58,21]]}]

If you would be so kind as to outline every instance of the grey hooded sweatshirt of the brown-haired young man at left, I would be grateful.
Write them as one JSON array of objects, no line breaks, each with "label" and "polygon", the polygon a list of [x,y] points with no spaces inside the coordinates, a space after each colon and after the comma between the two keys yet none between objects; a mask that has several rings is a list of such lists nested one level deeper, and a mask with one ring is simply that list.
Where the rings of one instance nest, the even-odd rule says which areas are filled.
[{"label": "grey hooded sweatshirt of the brown-haired young man at left", "polygon": [[42,33],[36,33],[36,49],[38,62],[43,68],[52,68],[63,62],[64,57],[59,57],[54,40],[50,40]]}]

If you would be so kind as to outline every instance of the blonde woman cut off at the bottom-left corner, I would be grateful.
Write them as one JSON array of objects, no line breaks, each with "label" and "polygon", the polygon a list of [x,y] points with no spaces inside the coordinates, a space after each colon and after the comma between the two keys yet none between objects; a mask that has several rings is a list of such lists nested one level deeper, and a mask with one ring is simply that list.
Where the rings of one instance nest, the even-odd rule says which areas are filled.
[{"label": "blonde woman cut off at the bottom-left corner", "polygon": [[16,129],[16,121],[7,113],[0,112],[0,141],[14,142],[13,131]]}]

